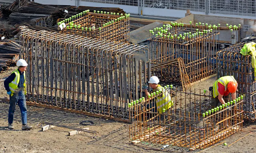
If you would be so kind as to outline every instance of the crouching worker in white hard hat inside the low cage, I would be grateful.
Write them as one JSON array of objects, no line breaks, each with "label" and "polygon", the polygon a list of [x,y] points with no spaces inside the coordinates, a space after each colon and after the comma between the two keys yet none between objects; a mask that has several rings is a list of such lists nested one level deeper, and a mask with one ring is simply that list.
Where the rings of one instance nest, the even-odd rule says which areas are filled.
[{"label": "crouching worker in white hard hat inside the low cage", "polygon": [[[163,88],[162,86],[160,86],[159,83],[159,79],[156,76],[153,76],[150,78],[150,80],[148,81],[150,87],[153,89],[153,92],[156,91],[160,91],[160,96],[157,96],[157,99],[155,101],[155,103],[152,104],[147,104],[147,109],[152,109],[152,112],[158,112],[158,113],[162,113],[163,109],[167,110],[169,108],[171,108],[171,106],[173,105],[173,101],[171,100],[171,96],[168,93],[168,91]],[[150,95],[150,93],[147,91],[147,86],[146,84],[143,85],[143,88],[145,89],[145,94],[148,97],[148,95]]]}]

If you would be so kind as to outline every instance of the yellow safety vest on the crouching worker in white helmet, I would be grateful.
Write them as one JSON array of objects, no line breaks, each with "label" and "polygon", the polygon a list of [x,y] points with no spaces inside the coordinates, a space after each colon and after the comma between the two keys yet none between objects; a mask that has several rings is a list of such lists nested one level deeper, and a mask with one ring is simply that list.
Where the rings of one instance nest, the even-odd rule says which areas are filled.
[{"label": "yellow safety vest on the crouching worker in white helmet", "polygon": [[171,108],[171,106],[173,105],[173,101],[168,91],[166,91],[166,89],[160,85],[158,85],[157,88],[153,90],[153,92],[155,91],[159,91],[160,93],[162,93],[161,97],[157,96],[157,100],[156,100],[157,112],[162,113],[163,108],[165,108],[165,110]]}]

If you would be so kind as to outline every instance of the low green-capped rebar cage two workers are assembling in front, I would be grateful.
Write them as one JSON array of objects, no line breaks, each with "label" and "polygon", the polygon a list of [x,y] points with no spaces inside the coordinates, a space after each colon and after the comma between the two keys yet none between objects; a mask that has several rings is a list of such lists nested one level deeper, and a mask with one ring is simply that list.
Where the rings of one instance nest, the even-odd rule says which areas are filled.
[{"label": "low green-capped rebar cage two workers are assembling in front", "polygon": [[[168,87],[165,87],[168,90]],[[204,90],[168,91],[174,102],[164,113],[155,113],[154,107],[159,93],[134,101],[130,106],[130,139],[160,143],[191,150],[207,148],[242,130],[243,96],[225,105],[212,108],[211,96]],[[210,93],[209,93],[210,95]],[[208,111],[208,109],[210,110]]]}]

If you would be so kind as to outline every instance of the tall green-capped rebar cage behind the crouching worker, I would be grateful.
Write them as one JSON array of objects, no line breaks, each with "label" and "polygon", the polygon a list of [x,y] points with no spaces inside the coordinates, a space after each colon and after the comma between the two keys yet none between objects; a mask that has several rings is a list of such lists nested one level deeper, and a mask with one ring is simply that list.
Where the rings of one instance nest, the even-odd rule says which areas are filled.
[{"label": "tall green-capped rebar cage behind the crouching worker", "polygon": [[[184,61],[190,83],[216,73],[214,55],[217,51],[219,27],[175,22],[155,28],[150,33],[151,65],[180,57]],[[176,77],[174,73],[169,75]]]}]

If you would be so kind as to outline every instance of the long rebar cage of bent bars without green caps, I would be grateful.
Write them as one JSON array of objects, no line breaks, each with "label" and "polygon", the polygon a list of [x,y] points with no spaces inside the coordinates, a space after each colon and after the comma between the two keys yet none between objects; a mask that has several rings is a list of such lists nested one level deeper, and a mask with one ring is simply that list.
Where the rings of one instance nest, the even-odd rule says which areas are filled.
[{"label": "long rebar cage of bent bars without green caps", "polygon": [[[127,103],[142,97],[146,46],[23,29],[28,101],[128,119]],[[147,77],[148,78],[148,77]]]}]

